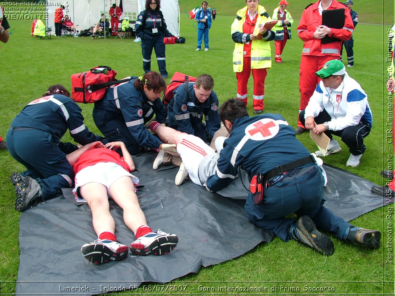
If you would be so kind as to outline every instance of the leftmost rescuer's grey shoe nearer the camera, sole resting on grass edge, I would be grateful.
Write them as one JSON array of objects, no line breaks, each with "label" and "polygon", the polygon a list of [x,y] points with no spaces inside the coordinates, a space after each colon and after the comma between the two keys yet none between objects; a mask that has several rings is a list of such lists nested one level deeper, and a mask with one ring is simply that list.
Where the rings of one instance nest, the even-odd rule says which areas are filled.
[{"label": "leftmost rescuer's grey shoe nearer the camera, sole resting on grass edge", "polygon": [[30,177],[23,180],[17,199],[15,200],[15,210],[23,212],[28,208],[33,208],[42,201],[41,186]]}]

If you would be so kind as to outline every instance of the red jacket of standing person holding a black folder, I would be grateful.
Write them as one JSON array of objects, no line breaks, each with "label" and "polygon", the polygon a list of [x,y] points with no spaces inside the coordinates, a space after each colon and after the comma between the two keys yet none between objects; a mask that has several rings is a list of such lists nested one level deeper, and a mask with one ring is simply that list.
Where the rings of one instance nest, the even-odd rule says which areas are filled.
[{"label": "red jacket of standing person holding a black folder", "polygon": [[[340,56],[340,48],[342,46],[341,41],[321,44],[321,39],[313,37],[317,26],[322,25],[322,17],[318,12],[318,4],[320,4],[320,2],[321,1],[318,1],[310,5],[303,11],[299,26],[297,27],[299,38],[305,41],[303,44],[302,55]],[[354,31],[354,24],[352,23],[350,11],[348,11],[348,8],[345,5],[337,2],[336,0],[332,0],[332,3],[327,10],[339,8],[344,8],[344,27],[342,29],[331,28],[331,34],[329,34],[329,37],[336,37],[345,41],[351,38],[352,32]]]}]

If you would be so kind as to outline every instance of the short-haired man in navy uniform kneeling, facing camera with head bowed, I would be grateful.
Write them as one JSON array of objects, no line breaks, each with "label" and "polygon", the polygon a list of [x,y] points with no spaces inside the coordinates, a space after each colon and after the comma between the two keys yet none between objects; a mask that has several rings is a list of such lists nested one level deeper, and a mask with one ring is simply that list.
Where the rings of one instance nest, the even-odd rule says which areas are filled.
[{"label": "short-haired man in navy uniform kneeling, facing camera with head bowed", "polygon": [[[218,97],[213,91],[214,80],[208,74],[201,74],[196,82],[182,83],[173,92],[167,106],[169,126],[203,141],[211,141],[221,127],[218,115]],[[205,125],[203,125],[203,116]]]}]

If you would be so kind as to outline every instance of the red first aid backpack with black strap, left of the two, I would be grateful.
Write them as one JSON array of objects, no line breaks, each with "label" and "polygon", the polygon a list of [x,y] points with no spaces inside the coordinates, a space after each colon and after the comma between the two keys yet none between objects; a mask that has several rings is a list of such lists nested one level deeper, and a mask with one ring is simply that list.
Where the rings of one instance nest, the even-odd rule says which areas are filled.
[{"label": "red first aid backpack with black strap, left of the two", "polygon": [[107,66],[97,66],[90,71],[71,75],[71,97],[77,103],[94,103],[102,99],[108,86],[130,81],[116,80],[117,72]]}]

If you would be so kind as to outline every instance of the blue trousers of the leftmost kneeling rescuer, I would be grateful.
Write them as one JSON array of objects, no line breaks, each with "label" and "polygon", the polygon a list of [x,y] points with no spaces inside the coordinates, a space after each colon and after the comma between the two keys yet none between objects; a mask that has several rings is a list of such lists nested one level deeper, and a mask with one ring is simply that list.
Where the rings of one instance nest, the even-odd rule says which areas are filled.
[{"label": "blue trousers of the leftmost kneeling rescuer", "polygon": [[56,197],[60,188],[73,185],[73,169],[58,143],[59,139],[38,129],[13,131],[11,127],[7,133],[9,154],[26,167],[22,176],[40,184],[44,200]]}]

